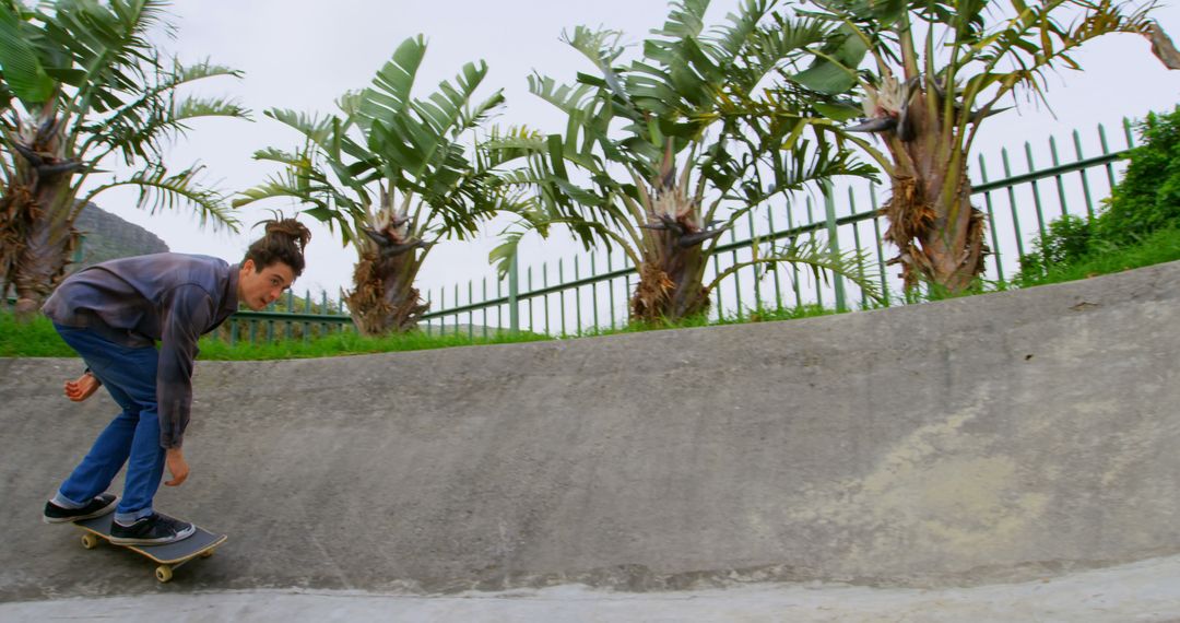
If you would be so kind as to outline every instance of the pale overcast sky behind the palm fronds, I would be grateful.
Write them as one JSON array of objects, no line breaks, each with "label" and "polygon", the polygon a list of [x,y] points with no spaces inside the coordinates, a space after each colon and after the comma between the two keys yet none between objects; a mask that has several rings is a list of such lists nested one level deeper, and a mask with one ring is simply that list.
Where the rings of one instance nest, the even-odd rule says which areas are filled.
[{"label": "pale overcast sky behind the palm fronds", "polygon": [[[716,24],[736,4],[715,0],[708,24]],[[490,73],[480,94],[503,87],[507,97],[498,123],[560,131],[555,109],[529,94],[525,79],[536,70],[570,83],[576,72],[590,71],[583,57],[558,40],[563,28],[605,25],[623,31],[625,40],[635,42],[662,25],[667,11],[662,0],[176,0],[172,14],[178,31],[166,47],[184,61],[210,57],[244,71],[243,80],[209,80],[199,92],[236,97],[254,111],[256,120],[198,122],[170,150],[170,163],[179,168],[201,160],[209,179],[227,190],[262,182],[275,169],[254,162],[253,152],[296,143],[294,132],[262,117],[263,110],[335,112],[334,101],[341,93],[366,86],[398,44],[418,33],[425,34],[430,45],[418,81],[424,91],[433,91],[439,80],[453,77],[464,63],[484,59]],[[1156,19],[1180,41],[1180,9],[1163,7]],[[1180,72],[1168,73],[1138,35],[1110,35],[1076,59],[1084,71],[1050,74],[1048,99],[1056,118],[1043,106],[1022,100],[1018,111],[988,122],[977,147],[990,157],[1001,146],[1020,149],[1024,140],[1042,144],[1050,135],[1058,142],[1068,140],[1075,127],[1092,135],[1099,123],[1113,125],[1122,117],[1139,118],[1180,103]],[[1114,146],[1121,145],[1121,139],[1115,140]],[[1071,147],[1068,151],[1071,153]],[[260,203],[242,211],[240,218],[247,227],[234,235],[199,230],[190,212],[149,216],[133,206],[129,195],[105,194],[98,203],[148,228],[173,251],[216,255],[230,262],[238,261],[249,241],[257,237],[260,230],[249,230],[249,225],[266,218],[267,209],[293,211],[282,201]],[[355,251],[342,248],[323,228],[313,225],[313,231],[308,269],[296,290],[322,288],[334,296],[339,288],[350,286]],[[496,232],[498,229],[474,243],[435,248],[420,283],[438,288],[491,274],[487,251],[496,244]],[[527,243],[522,253],[533,261],[556,261],[573,248],[562,237],[551,244]]]}]

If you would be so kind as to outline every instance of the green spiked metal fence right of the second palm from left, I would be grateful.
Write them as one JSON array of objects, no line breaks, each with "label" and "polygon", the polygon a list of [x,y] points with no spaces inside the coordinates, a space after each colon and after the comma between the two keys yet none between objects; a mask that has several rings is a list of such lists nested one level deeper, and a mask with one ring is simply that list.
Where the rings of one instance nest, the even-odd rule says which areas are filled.
[{"label": "green spiked metal fence right of the second palm from left", "polygon": [[[1067,162],[1057,140],[1037,152],[1029,143],[1023,149],[1023,172],[1015,171],[1014,158],[1002,150],[1003,177],[992,178],[989,163],[981,155],[971,171],[975,204],[986,214],[988,244],[984,278],[1005,282],[1020,270],[1020,256],[1030,250],[1048,223],[1062,215],[1093,216],[1102,198],[1121,175],[1119,160],[1134,146],[1132,125],[1123,120],[1126,146],[1112,150],[1107,131],[1097,126],[1097,146],[1087,156],[1083,137],[1071,133],[1073,157]],[[1037,153],[1049,159],[1038,168]],[[706,280],[739,262],[749,261],[755,247],[785,238],[815,236],[832,253],[860,250],[868,258],[866,270],[883,276],[880,291],[885,304],[905,303],[899,269],[889,265],[893,255],[881,236],[887,227],[880,216],[881,198],[887,191],[867,183],[835,184],[818,195],[800,194],[780,205],[768,206],[758,216],[750,212],[729,231],[719,245]],[[785,227],[784,227],[785,225]],[[765,257],[765,254],[762,255]],[[455,283],[427,293],[431,312],[425,315],[432,333],[490,335],[498,330],[529,330],[550,335],[572,335],[627,322],[627,306],[636,270],[610,253],[573,256],[557,262],[513,265],[507,278],[485,277]],[[743,268],[714,290],[710,314],[714,317],[745,317],[762,309],[820,304],[837,309],[871,307],[867,294],[840,276],[817,281],[799,267],[773,269]]]}]

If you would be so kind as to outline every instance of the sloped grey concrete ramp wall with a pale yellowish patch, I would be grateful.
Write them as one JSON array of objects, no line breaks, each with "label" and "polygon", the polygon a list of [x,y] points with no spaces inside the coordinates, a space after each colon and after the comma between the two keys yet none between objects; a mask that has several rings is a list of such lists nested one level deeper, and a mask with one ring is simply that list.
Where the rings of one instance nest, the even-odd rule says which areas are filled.
[{"label": "sloped grey concrete ramp wall with a pale yellowish patch", "polygon": [[[793,322],[202,362],[169,591],[909,589],[1180,553],[1180,264]],[[40,510],[116,412],[0,360],[0,601],[160,590]]]}]

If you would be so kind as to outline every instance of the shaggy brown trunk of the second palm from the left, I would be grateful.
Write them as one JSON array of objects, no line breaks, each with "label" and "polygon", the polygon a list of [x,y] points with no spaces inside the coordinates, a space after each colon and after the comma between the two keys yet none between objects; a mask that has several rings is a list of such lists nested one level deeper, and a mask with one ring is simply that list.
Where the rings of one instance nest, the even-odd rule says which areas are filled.
[{"label": "shaggy brown trunk of the second palm from the left", "polygon": [[355,290],[348,294],[353,322],[365,335],[406,333],[418,328],[430,303],[422,303],[414,278],[421,268],[414,251],[381,257],[372,248],[353,271]]}]

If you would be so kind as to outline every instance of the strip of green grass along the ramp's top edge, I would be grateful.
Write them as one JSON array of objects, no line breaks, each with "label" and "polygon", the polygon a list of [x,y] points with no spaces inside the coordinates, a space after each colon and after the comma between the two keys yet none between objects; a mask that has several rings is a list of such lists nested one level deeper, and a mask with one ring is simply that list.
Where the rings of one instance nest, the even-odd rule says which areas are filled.
[{"label": "strip of green grass along the ramp's top edge", "polygon": [[[1074,264],[1053,267],[1043,277],[1037,280],[1024,280],[1018,284],[1018,287],[1028,288],[1045,286],[1049,283],[1063,283],[1067,281],[1121,273],[1133,268],[1141,268],[1176,260],[1180,260],[1180,228],[1165,229],[1145,237],[1138,244],[1083,257]],[[975,294],[1007,290],[1016,287],[1017,286],[1005,283],[992,283],[981,288],[981,290]],[[825,316],[835,313],[837,312],[833,309],[824,308],[818,304],[807,304],[786,309],[746,310],[741,316],[733,314],[720,320],[701,315],[675,323],[632,322],[621,328],[588,329],[579,334],[563,335],[560,337],[551,337],[548,335],[526,332],[517,335],[503,332],[489,337],[468,337],[461,334],[430,335],[421,332],[405,335],[391,335],[386,337],[365,337],[354,333],[336,333],[314,337],[308,340],[307,343],[301,340],[253,345],[240,342],[232,347],[224,341],[215,341],[210,337],[204,337],[201,340],[199,359],[206,361],[253,361],[275,359],[312,359],[404,350],[428,350],[459,346],[536,342],[557,339],[571,340],[650,330],[742,324],[748,322],[773,322]],[[61,341],[61,337],[58,336],[58,333],[53,329],[53,324],[47,319],[38,316],[33,322],[20,326],[13,320],[11,313],[0,312],[0,356],[72,358],[77,356],[77,354],[72,348]]]}]

